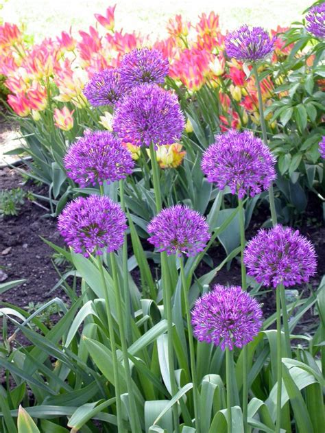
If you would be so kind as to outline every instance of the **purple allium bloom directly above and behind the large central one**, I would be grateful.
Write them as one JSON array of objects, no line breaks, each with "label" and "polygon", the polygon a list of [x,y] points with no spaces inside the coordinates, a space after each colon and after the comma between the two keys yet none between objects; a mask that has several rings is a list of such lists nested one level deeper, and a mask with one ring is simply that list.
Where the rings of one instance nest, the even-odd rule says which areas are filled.
[{"label": "purple allium bloom directly above and behind the large central one", "polygon": [[123,56],[119,72],[121,82],[130,89],[143,83],[163,84],[169,62],[158,49],[134,49]]}]

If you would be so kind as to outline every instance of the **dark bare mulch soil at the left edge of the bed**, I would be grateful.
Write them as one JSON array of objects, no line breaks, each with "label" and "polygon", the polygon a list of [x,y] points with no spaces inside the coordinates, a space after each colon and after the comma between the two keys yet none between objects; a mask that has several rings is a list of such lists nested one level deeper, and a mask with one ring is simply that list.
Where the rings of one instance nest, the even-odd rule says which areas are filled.
[{"label": "dark bare mulch soil at the left edge of the bed", "polygon": [[[46,194],[41,187],[21,183],[21,176],[15,170],[0,170],[0,189],[21,187],[35,194]],[[48,292],[58,281],[58,274],[51,264],[53,250],[40,237],[60,245],[62,239],[56,230],[56,221],[43,218],[45,213],[45,209],[25,200],[19,215],[1,220],[0,269],[8,275],[5,281],[26,281],[0,294],[0,301],[25,307],[31,301],[38,303],[49,299]]]}]

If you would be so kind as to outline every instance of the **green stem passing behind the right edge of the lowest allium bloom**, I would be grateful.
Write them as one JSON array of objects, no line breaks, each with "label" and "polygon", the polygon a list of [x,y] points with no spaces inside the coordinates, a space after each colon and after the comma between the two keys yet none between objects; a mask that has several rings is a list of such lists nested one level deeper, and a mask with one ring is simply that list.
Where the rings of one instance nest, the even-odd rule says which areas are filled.
[{"label": "green stem passing behind the right edge of the lowest allium bloom", "polygon": [[[243,261],[243,253],[245,249],[245,211],[243,208],[243,200],[238,198],[239,207],[239,229],[241,235],[241,288],[245,292],[247,290],[246,267]],[[243,426],[244,432],[248,431],[248,347],[247,344],[243,347]]]}]

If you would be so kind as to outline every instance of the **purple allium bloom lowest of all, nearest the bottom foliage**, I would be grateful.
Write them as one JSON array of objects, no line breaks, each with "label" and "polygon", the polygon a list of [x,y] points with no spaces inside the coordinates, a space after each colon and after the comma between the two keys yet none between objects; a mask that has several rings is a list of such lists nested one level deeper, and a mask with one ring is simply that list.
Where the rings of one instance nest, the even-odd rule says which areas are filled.
[{"label": "purple allium bloom lowest of all, nearest the bottom foliage", "polygon": [[195,302],[192,325],[197,340],[232,350],[245,346],[258,334],[262,310],[239,285],[217,284]]}]

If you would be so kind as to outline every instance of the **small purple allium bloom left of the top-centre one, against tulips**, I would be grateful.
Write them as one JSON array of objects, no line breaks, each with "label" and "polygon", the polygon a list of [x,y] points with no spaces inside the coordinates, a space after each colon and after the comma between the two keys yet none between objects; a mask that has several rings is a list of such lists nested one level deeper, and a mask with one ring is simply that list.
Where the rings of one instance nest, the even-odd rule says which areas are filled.
[{"label": "small purple allium bloom left of the top-centre one, against tulips", "polygon": [[108,68],[96,72],[84,87],[84,95],[91,105],[114,105],[125,91],[117,69]]}]

